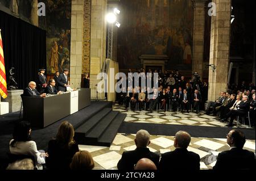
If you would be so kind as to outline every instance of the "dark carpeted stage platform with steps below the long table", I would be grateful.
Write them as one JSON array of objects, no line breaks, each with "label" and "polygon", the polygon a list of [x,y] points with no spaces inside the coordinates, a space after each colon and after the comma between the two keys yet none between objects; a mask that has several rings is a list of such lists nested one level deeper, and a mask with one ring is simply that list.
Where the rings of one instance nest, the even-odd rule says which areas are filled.
[{"label": "dark carpeted stage platform with steps below the long table", "polygon": [[[59,125],[67,120],[75,128],[75,140],[80,145],[110,146],[126,114],[112,110],[112,102],[91,102],[90,106],[73,113],[45,128],[32,128],[31,137],[38,150],[46,150],[48,141],[56,136]],[[0,116],[0,162],[7,159],[9,141],[19,112]]]}]

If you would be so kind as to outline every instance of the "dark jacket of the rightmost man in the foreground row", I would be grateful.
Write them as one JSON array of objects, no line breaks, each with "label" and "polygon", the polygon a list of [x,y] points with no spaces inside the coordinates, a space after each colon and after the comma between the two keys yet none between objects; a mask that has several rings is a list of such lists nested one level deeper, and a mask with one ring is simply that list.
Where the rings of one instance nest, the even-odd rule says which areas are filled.
[{"label": "dark jacket of the rightmost man in the foreground row", "polygon": [[233,148],[218,154],[214,170],[254,170],[255,155],[252,151]]}]

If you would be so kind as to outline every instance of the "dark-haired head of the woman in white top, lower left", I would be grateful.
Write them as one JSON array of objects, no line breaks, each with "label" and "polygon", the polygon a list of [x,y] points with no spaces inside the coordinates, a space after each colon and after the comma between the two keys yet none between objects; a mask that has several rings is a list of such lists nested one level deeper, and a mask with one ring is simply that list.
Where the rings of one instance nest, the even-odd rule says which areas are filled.
[{"label": "dark-haired head of the woman in white top, lower left", "polygon": [[15,124],[13,130],[14,141],[11,143],[11,146],[14,145],[16,141],[29,141],[30,138],[30,123],[27,121],[19,121]]}]

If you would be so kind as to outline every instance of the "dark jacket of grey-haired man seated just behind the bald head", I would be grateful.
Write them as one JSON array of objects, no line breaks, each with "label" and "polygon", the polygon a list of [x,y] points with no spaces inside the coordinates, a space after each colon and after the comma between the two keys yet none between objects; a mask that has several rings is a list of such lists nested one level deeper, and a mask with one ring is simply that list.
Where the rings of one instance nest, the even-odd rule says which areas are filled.
[{"label": "dark jacket of grey-haired man seated just behind the bald head", "polygon": [[133,151],[124,151],[117,163],[118,170],[134,170],[134,165],[141,159],[148,158],[158,167],[159,154],[151,152],[148,148],[137,148]]}]

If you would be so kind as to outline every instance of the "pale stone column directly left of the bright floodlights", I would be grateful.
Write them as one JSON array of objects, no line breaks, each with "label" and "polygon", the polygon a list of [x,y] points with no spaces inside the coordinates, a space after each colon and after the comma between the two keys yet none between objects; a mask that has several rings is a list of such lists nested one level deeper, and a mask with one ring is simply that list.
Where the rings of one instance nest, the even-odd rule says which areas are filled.
[{"label": "pale stone column directly left of the bright floodlights", "polygon": [[[97,74],[106,59],[106,21],[107,0],[92,0],[92,18],[90,34],[90,89],[91,98],[96,99]],[[104,99],[104,93],[98,99]]]}]

